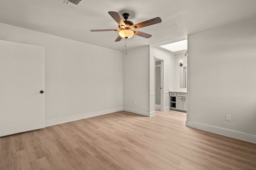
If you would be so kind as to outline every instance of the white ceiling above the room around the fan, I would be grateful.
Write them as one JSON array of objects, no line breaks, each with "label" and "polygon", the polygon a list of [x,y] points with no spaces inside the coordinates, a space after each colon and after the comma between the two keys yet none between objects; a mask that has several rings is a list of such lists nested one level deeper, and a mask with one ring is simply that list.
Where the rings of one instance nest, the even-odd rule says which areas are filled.
[{"label": "white ceiling above the room around the fan", "polygon": [[[124,39],[114,42],[118,29],[108,11],[128,12],[134,24],[160,17],[162,23],[138,29],[150,39],[134,35],[128,49],[164,45],[187,35],[256,17],[256,0],[82,0],[77,8],[64,0],[0,0],[0,22],[124,51]],[[1,29],[1,28],[0,28]]]}]

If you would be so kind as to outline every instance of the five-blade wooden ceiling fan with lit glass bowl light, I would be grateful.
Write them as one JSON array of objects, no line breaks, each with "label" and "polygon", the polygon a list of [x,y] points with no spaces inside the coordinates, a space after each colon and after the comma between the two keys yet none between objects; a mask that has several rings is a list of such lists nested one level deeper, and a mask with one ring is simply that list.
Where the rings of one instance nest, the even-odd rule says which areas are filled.
[{"label": "five-blade wooden ceiling fan with lit glass bowl light", "polygon": [[147,20],[141,23],[137,23],[137,24],[133,24],[132,21],[127,21],[128,17],[130,16],[128,13],[124,13],[123,17],[124,17],[124,21],[122,20],[122,18],[118,15],[117,12],[108,12],[108,14],[110,16],[112,16],[112,18],[118,23],[119,29],[96,29],[96,30],[90,30],[92,32],[98,32],[98,31],[119,31],[119,36],[117,37],[117,39],[115,40],[120,41],[122,38],[130,38],[132,37],[134,34],[138,35],[140,37],[144,37],[144,38],[150,38],[152,35],[147,34],[147,33],[143,33],[140,31],[137,31],[135,29],[141,28],[141,27],[146,27],[148,25],[153,25],[156,23],[160,23],[162,22],[161,18],[156,17],[153,18],[151,20]]}]

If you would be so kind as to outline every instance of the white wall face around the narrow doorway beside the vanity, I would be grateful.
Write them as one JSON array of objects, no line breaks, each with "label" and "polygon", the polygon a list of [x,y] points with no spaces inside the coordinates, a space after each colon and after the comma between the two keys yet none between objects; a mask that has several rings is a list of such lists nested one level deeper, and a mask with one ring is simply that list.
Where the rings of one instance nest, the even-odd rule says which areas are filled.
[{"label": "white wall face around the narrow doorway beside the vanity", "polygon": [[[169,110],[169,88],[174,88],[174,54],[150,45],[150,94],[154,94],[154,57],[164,59],[164,111]],[[154,112],[154,96],[150,95],[150,113]]]}]

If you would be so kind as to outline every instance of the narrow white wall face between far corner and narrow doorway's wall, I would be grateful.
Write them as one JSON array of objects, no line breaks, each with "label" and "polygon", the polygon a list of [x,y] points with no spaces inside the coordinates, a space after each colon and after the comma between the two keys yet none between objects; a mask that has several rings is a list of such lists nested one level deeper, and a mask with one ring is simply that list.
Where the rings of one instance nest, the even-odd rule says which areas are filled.
[{"label": "narrow white wall face between far corner and narrow doorway's wall", "polygon": [[[149,115],[149,51],[150,46],[139,47],[124,53],[123,106],[145,116]],[[134,104],[136,100],[136,104]]]}]

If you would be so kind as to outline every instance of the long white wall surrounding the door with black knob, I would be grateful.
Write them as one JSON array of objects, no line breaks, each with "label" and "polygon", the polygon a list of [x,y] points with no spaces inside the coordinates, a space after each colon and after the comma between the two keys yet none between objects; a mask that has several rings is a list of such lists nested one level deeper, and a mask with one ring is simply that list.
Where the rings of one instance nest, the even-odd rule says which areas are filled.
[{"label": "long white wall surrounding the door with black knob", "polygon": [[3,23],[0,39],[45,47],[46,126],[122,110],[122,52]]}]

